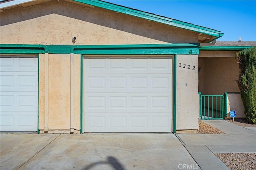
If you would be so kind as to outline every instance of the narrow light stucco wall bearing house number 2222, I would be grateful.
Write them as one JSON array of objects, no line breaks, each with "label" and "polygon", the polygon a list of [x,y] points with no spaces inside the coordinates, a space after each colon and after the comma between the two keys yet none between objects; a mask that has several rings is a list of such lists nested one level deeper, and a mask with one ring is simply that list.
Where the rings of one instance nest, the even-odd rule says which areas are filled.
[{"label": "narrow light stucco wall bearing house number 2222", "polygon": [[[180,67],[179,63],[181,63]],[[185,68],[183,68],[184,64],[186,64]],[[195,66],[194,70],[193,66]],[[176,96],[176,129],[198,129],[198,55],[177,55]]]}]

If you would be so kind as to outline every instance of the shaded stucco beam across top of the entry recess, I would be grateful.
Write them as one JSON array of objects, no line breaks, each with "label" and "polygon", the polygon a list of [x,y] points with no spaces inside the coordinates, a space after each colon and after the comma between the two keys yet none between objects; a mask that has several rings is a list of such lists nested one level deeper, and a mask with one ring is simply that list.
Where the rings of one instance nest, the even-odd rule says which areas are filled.
[{"label": "shaded stucco beam across top of the entry recess", "polygon": [[236,57],[238,51],[200,51],[199,57]]}]

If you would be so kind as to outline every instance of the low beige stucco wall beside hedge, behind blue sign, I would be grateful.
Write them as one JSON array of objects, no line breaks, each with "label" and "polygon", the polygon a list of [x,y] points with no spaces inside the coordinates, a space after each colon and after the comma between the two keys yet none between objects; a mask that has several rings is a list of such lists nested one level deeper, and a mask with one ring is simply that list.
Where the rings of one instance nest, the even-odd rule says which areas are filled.
[{"label": "low beige stucco wall beside hedge, behind blue sign", "polygon": [[236,117],[246,117],[244,115],[244,104],[242,102],[241,94],[228,94],[228,118],[230,118],[230,110],[236,111]]}]

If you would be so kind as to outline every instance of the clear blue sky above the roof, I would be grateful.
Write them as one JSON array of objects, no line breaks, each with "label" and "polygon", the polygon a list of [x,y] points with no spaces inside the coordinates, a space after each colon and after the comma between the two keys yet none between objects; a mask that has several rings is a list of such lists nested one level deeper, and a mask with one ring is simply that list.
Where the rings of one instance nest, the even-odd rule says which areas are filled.
[{"label": "clear blue sky above the roof", "polygon": [[216,29],[217,41],[256,41],[256,0],[104,0]]}]

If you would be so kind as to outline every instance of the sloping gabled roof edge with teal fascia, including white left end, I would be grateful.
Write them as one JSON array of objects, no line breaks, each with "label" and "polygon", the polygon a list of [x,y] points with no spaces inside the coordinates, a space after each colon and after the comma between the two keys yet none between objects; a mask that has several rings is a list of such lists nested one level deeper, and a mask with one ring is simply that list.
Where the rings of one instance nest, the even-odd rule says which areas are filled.
[{"label": "sloping gabled roof edge with teal fascia, including white left end", "polygon": [[[95,6],[95,7],[98,7],[98,8],[104,8],[104,9],[107,9],[107,10],[112,10],[112,11],[115,11],[115,12],[130,15],[130,16],[135,16],[135,17],[138,17],[138,18],[143,18],[145,20],[164,23],[166,25],[171,25],[171,26],[174,26],[174,27],[182,28],[182,29],[188,29],[190,31],[195,31],[195,32],[198,32],[198,42],[199,43],[209,43],[212,40],[217,39],[219,37],[222,37],[224,35],[220,31],[217,31],[217,30],[214,30],[214,29],[210,29],[210,28],[207,28],[207,27],[202,27],[202,26],[199,26],[199,25],[194,25],[192,23],[187,23],[187,22],[183,22],[183,21],[179,21],[179,20],[174,20],[172,18],[159,16],[159,15],[156,15],[156,14],[136,10],[136,9],[133,9],[133,8],[127,8],[127,7],[120,6],[120,5],[117,5],[117,4],[112,4],[112,3],[109,3],[109,2],[104,2],[104,1],[100,1],[100,0],[72,0],[72,1],[73,2],[78,2],[80,4],[86,4],[86,5],[89,5],[89,6]],[[24,0],[24,1],[14,0],[14,1],[2,3],[1,6],[0,6],[0,9],[1,9],[1,12],[3,12],[4,10],[6,10],[8,8],[14,8],[16,6],[28,6],[28,4],[31,3],[31,2],[34,2],[34,3],[41,2],[42,3],[42,1],[36,1],[36,0]]]}]

